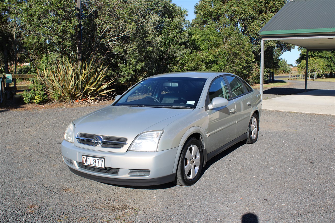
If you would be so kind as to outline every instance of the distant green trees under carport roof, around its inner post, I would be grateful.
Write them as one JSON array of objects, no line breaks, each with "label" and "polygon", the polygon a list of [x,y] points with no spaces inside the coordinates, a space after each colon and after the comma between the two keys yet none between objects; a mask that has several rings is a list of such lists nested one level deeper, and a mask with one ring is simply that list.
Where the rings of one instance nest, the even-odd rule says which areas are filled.
[{"label": "distant green trees under carport roof, around its inner post", "polygon": [[[305,60],[306,64],[306,48],[299,47],[300,55],[295,61],[298,64]],[[309,51],[308,52],[308,67],[310,67],[310,59],[321,59],[325,63],[325,68],[322,70],[324,72],[335,72],[335,51]],[[304,65],[305,66],[305,65]]]}]

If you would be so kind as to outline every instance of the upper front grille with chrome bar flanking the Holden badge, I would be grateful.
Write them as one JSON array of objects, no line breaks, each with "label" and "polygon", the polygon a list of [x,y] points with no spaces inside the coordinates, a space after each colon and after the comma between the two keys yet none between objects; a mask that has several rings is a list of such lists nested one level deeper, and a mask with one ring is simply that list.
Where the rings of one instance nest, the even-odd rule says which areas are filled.
[{"label": "upper front grille with chrome bar flanking the Holden badge", "polygon": [[[85,144],[85,145],[93,145],[93,139],[98,135],[94,134],[87,134],[87,133],[78,133],[76,136],[76,139],[79,143]],[[116,148],[120,149],[127,143],[127,138],[122,137],[115,137],[115,136],[101,136],[103,138],[102,144],[100,147],[106,147],[106,148]]]}]

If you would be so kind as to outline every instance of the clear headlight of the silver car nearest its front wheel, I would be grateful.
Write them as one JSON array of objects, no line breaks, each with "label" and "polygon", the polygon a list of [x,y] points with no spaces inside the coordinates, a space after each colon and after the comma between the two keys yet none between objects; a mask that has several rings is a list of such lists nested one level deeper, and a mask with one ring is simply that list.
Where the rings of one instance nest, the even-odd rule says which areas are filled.
[{"label": "clear headlight of the silver car nearest its front wheel", "polygon": [[158,141],[164,131],[145,132],[136,137],[129,150],[157,151]]}]

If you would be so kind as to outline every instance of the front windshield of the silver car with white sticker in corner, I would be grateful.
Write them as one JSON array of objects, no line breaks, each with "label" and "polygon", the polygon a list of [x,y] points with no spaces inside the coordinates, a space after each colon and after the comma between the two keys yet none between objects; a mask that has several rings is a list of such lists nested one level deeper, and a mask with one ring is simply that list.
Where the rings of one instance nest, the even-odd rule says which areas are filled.
[{"label": "front windshield of the silver car with white sticker in corner", "polygon": [[205,85],[205,78],[148,78],[133,86],[116,106],[195,108]]}]

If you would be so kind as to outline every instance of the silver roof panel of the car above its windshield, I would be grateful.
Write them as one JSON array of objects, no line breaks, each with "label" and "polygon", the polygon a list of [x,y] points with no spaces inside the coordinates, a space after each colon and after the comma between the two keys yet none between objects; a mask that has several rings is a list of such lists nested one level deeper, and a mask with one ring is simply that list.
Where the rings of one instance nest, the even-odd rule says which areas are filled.
[{"label": "silver roof panel of the car above its windshield", "polygon": [[[210,78],[212,76],[220,76],[224,74],[231,73],[224,73],[224,72],[211,72],[211,71],[189,71],[189,72],[173,72],[173,73],[165,73],[165,74],[157,74],[148,78],[155,78],[155,77],[194,77],[194,78]],[[234,74],[232,74],[234,75]],[[234,75],[236,76],[236,75]]]}]

